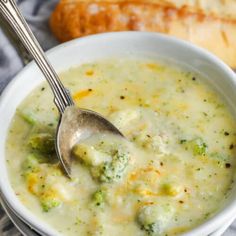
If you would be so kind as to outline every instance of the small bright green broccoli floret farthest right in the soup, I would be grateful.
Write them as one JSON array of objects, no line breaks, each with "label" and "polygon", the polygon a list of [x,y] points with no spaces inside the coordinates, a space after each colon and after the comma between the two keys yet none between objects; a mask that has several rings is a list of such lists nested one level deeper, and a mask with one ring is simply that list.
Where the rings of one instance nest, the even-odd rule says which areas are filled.
[{"label": "small bright green broccoli floret farthest right in the soup", "polygon": [[185,146],[186,150],[191,150],[193,155],[206,155],[207,153],[207,144],[202,140],[202,138],[195,138],[193,140],[180,140],[180,144]]}]

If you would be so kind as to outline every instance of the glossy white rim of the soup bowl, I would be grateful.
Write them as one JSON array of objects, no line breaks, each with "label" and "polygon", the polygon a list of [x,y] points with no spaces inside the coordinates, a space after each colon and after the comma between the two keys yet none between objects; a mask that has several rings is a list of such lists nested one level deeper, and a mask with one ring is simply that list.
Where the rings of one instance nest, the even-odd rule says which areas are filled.
[{"label": "glossy white rim of the soup bowl", "polygon": [[[160,33],[149,33],[149,32],[111,32],[111,33],[102,33],[102,34],[95,34],[90,35],[86,37],[82,37],[79,39],[74,39],[69,42],[60,44],[56,47],[53,47],[52,49],[48,50],[46,52],[47,56],[57,54],[59,51],[67,50],[69,47],[81,47],[83,44],[91,44],[95,43],[96,40],[114,40],[117,38],[120,38],[121,40],[126,39],[127,37],[144,37],[144,38],[154,38],[154,40],[163,40],[166,43],[175,44],[176,46],[182,46],[190,49],[191,54],[198,54],[201,55],[202,59],[208,59],[211,61],[215,66],[217,66],[224,74],[225,78],[227,80],[230,80],[234,86],[236,87],[236,76],[232,69],[230,69],[223,61],[221,61],[219,58],[217,58],[215,55],[211,54],[207,50],[200,48],[196,45],[193,45],[192,43],[186,42],[181,39],[177,39],[175,37],[163,35]],[[10,99],[10,95],[12,92],[17,88],[17,86],[20,84],[19,80],[20,78],[28,71],[34,69],[35,62],[30,62],[27,66],[25,66],[16,76],[13,77],[11,82],[6,86],[4,91],[2,92],[0,96],[0,113],[4,111],[4,107],[6,106],[7,101]],[[35,70],[35,69],[34,69]],[[23,100],[21,100],[22,102]],[[12,117],[11,117],[12,119]],[[1,117],[0,117],[1,122]],[[6,140],[3,141],[4,144],[6,143]],[[3,150],[4,151],[4,150]],[[5,152],[4,152],[5,153]],[[34,228],[36,231],[41,231],[46,235],[55,235],[58,234],[57,231],[52,229],[51,226],[48,226],[45,224],[43,220],[40,220],[36,215],[34,215],[33,212],[26,209],[26,207],[23,205],[23,203],[20,202],[20,200],[17,198],[17,196],[12,192],[9,192],[9,187],[12,189],[8,172],[7,172],[7,165],[5,161],[5,156],[0,157],[0,163],[5,163],[4,171],[6,172],[6,176],[8,177],[9,183],[5,181],[4,178],[0,178],[0,191],[6,198],[6,201],[8,205],[11,207],[11,209],[14,211],[14,213],[22,219],[27,224],[30,224],[32,228]],[[2,171],[0,172],[0,176],[2,175]],[[6,185],[7,184],[7,185]],[[12,189],[13,190],[13,189]],[[20,203],[20,204],[19,204]],[[184,233],[183,235],[186,236],[198,236],[198,235],[205,235],[205,233],[211,233],[213,232],[212,229],[216,229],[216,226],[220,227],[222,223],[227,222],[230,218],[232,218],[236,213],[236,199],[232,200],[230,204],[226,207],[224,207],[220,212],[218,212],[215,216],[213,216],[211,219],[205,221],[204,223],[200,224],[196,228]],[[37,221],[36,221],[37,219]],[[43,229],[42,229],[43,228]]]}]

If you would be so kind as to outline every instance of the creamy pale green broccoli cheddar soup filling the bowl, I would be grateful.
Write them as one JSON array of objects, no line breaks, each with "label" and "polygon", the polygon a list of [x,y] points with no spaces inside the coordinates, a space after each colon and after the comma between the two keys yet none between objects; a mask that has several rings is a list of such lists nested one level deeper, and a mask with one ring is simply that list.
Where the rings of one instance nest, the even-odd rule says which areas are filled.
[{"label": "creamy pale green broccoli cheddar soup filling the bowl", "polygon": [[223,206],[236,125],[199,74],[111,59],[61,78],[79,107],[101,113],[126,139],[97,134],[76,144],[69,179],[55,154],[58,111],[48,85],[18,107],[6,144],[12,187],[58,235],[179,235]]}]

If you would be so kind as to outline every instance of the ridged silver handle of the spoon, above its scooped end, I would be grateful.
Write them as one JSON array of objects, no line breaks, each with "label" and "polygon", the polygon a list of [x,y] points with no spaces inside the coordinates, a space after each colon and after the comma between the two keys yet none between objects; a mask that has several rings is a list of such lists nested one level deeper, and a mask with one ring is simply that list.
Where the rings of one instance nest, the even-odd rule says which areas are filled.
[{"label": "ridged silver handle of the spoon, above its scooped end", "polygon": [[60,113],[63,113],[67,106],[74,104],[71,95],[63,86],[52,65],[45,57],[41,46],[20,13],[16,2],[14,0],[0,0],[0,13],[12,27],[22,44],[29,51],[38,67],[43,72],[54,93],[54,103]]}]

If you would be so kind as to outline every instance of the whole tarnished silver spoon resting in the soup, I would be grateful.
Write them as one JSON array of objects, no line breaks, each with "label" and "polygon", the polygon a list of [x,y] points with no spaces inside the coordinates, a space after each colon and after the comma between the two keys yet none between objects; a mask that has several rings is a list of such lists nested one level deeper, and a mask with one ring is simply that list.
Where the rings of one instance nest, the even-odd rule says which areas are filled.
[{"label": "whole tarnished silver spoon resting in the soup", "polygon": [[55,147],[62,167],[70,177],[71,149],[76,143],[95,133],[108,132],[122,137],[123,135],[101,115],[93,111],[79,109],[74,105],[69,91],[63,86],[47,60],[14,0],[0,0],[0,13],[32,55],[54,93],[54,103],[60,112]]}]

